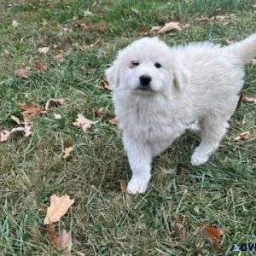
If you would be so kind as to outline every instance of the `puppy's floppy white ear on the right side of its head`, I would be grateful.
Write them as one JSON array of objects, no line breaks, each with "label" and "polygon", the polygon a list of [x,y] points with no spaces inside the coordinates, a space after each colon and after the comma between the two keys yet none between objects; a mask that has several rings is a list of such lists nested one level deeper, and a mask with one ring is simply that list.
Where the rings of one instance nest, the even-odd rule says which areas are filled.
[{"label": "puppy's floppy white ear on the right side of its head", "polygon": [[190,73],[186,67],[183,67],[180,61],[175,63],[174,70],[172,71],[173,84],[179,92],[190,82]]}]

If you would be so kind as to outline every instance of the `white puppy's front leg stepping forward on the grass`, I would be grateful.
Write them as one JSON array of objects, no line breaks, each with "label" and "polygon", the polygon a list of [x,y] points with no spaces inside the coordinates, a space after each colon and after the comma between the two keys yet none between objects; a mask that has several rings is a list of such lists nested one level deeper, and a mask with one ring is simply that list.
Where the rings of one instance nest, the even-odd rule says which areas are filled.
[{"label": "white puppy's front leg stepping forward on the grass", "polygon": [[132,172],[127,192],[132,195],[144,193],[148,188],[151,176],[151,149],[147,143],[138,142],[131,137],[125,136],[124,146]]}]

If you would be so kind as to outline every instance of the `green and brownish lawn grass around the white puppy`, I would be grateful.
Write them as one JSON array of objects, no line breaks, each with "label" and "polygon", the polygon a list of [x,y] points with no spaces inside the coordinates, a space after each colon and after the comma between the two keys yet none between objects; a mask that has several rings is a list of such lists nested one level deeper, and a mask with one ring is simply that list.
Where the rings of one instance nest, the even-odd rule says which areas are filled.
[{"label": "green and brownish lawn grass around the white puppy", "polygon": [[[62,119],[50,112],[35,117],[32,137],[14,135],[0,144],[0,254],[62,255],[43,224],[53,193],[75,199],[59,224],[72,230],[72,255],[226,255],[232,243],[255,243],[255,105],[241,104],[222,147],[206,165],[189,164],[198,139],[188,132],[154,160],[147,193],[129,196],[119,188],[119,179],[128,181],[131,172],[120,131],[108,123],[111,93],[101,84],[113,55],[142,37],[143,27],[178,20],[190,26],[162,36],[166,43],[225,44],[255,32],[253,3],[0,0],[0,130],[15,125],[10,116],[20,116],[20,102],[44,106],[51,97],[66,99],[51,108]],[[196,20],[230,14],[235,16],[226,25]],[[13,20],[19,25],[12,26]],[[38,52],[44,46],[49,47],[45,55]],[[56,60],[60,53],[62,60]],[[36,60],[49,70],[34,70],[29,79],[15,77],[15,69]],[[256,95],[256,67],[248,64],[246,71],[243,93]],[[72,123],[77,113],[96,120],[92,108],[104,108],[103,119],[83,133]],[[247,130],[251,139],[233,141]],[[71,145],[72,157],[63,160],[63,148]],[[224,230],[219,249],[201,235],[202,222]]]}]

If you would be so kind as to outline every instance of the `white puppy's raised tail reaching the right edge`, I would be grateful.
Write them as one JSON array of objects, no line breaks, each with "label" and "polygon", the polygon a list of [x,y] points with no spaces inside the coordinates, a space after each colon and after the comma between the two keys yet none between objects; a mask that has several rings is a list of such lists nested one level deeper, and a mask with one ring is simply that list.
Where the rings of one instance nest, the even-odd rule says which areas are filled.
[{"label": "white puppy's raised tail reaching the right edge", "polygon": [[243,63],[247,63],[256,57],[256,33],[240,42],[230,44],[227,49],[237,55]]}]

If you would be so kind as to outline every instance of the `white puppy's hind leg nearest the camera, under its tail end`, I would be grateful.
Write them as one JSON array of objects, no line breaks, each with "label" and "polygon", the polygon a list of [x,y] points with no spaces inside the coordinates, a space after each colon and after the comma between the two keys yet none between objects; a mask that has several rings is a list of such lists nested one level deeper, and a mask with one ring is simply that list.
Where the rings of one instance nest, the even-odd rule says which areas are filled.
[{"label": "white puppy's hind leg nearest the camera, under its tail end", "polygon": [[207,162],[212,152],[218,148],[218,144],[228,128],[229,117],[224,118],[219,114],[209,114],[199,121],[201,143],[195,148],[191,157],[191,164],[199,166]]}]

